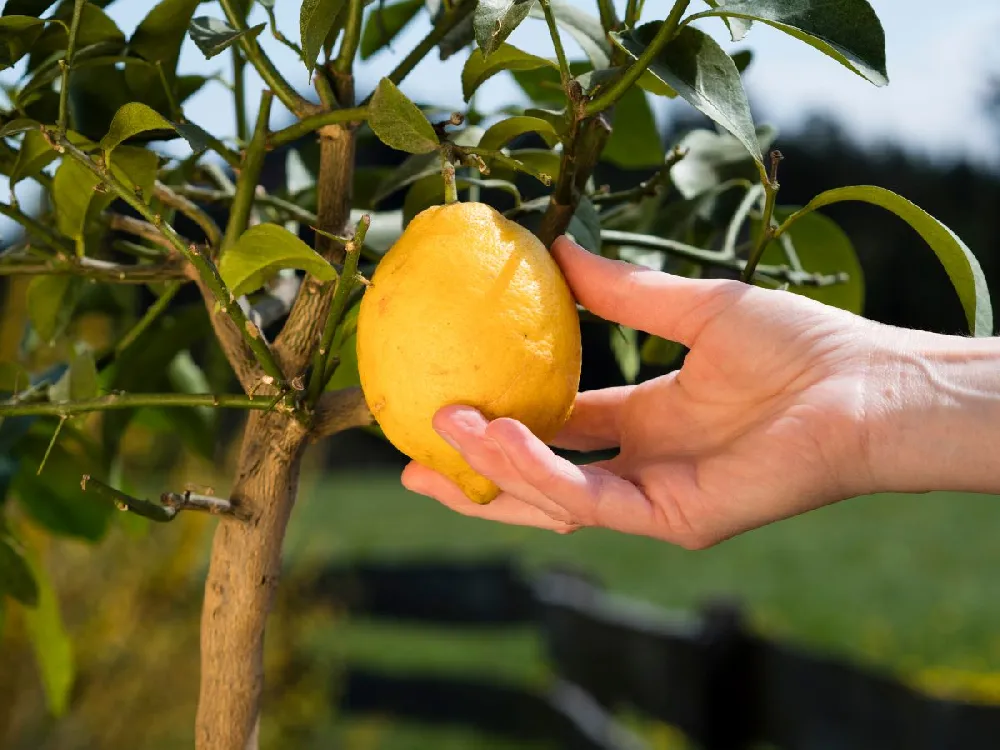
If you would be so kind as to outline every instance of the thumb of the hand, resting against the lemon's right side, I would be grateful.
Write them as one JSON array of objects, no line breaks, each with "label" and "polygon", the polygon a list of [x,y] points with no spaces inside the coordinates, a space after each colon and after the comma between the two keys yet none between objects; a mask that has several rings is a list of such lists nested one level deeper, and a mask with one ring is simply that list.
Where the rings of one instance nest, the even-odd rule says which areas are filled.
[{"label": "thumb of the hand, resting against the lemon's right side", "polygon": [[577,301],[606,320],[691,346],[713,317],[750,289],[687,279],[589,253],[567,237],[552,245]]}]

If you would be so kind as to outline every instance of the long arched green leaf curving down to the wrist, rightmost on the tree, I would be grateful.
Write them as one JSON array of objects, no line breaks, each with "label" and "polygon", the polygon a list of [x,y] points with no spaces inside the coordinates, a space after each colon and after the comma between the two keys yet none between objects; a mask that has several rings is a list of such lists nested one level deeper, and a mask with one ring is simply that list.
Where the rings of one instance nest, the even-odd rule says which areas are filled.
[{"label": "long arched green leaf curving down to the wrist, rightmost on the tree", "polygon": [[974,336],[993,335],[993,308],[990,304],[989,288],[976,256],[948,227],[891,190],[870,185],[827,190],[809,201],[805,208],[789,216],[782,224],[782,230],[791,228],[796,221],[811,211],[843,201],[863,201],[881,206],[913,227],[931,246],[941,265],[944,266],[962,301],[970,332]]}]

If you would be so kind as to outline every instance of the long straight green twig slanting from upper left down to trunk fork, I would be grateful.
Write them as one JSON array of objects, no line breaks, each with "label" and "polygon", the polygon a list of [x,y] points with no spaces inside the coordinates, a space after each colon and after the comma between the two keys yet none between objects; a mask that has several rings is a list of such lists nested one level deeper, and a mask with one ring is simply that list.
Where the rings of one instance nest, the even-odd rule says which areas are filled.
[{"label": "long straight green twig slanting from upper left down to trunk fork", "polygon": [[246,319],[246,316],[243,314],[239,305],[233,304],[236,301],[235,297],[233,297],[229,289],[226,288],[225,282],[219,275],[219,270],[215,267],[215,264],[212,263],[208,256],[197,246],[184,244],[184,241],[177,234],[177,232],[174,231],[173,227],[171,227],[169,223],[163,221],[163,218],[158,214],[155,214],[152,209],[140,200],[132,190],[119,182],[118,179],[111,174],[110,170],[106,167],[98,166],[93,159],[70,143],[67,138],[59,138],[56,143],[59,149],[87,167],[87,169],[96,175],[105,185],[111,188],[111,190],[119,198],[132,206],[132,208],[138,211],[143,218],[159,229],[160,233],[170,242],[171,246],[183,255],[192,266],[194,266],[198,277],[201,279],[201,283],[212,295],[215,302],[218,304],[219,310],[229,318],[233,326],[239,331],[244,343],[247,347],[249,347],[250,351],[253,352],[253,355],[257,360],[257,364],[259,364],[264,372],[271,378],[278,382],[284,382],[284,374],[278,366],[271,350],[260,337],[257,327]]}]

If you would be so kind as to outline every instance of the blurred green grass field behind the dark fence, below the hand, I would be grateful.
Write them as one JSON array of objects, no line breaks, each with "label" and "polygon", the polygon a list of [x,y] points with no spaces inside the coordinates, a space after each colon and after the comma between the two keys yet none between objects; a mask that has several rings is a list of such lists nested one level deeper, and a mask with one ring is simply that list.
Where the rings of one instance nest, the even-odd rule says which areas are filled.
[{"label": "blurred green grass field behind the dark fence, below the hand", "polygon": [[[957,686],[1000,701],[998,533],[1000,498],[882,495],[688,552],[598,530],[562,537],[468,519],[406,492],[395,475],[370,474],[308,481],[286,550],[291,576],[330,560],[504,556],[528,569],[569,564],[618,593],[669,608],[733,595],[768,634],[939,692]],[[320,627],[311,640],[326,658],[385,669],[529,684],[546,674],[539,644],[524,633],[484,637],[355,622],[341,623],[335,639]],[[429,746],[425,735],[379,726],[381,739],[371,747]],[[434,746],[473,746],[462,735],[448,737],[437,736]]]}]

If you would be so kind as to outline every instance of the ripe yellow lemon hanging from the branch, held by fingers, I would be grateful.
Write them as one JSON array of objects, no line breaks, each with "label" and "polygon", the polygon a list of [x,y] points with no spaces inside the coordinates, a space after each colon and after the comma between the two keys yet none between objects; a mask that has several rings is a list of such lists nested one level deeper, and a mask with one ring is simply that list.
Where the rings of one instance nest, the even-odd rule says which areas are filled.
[{"label": "ripe yellow lemon hanging from the branch, held by fingers", "polygon": [[483,203],[452,203],[414,217],[382,258],[361,301],[357,352],[386,438],[488,503],[499,488],[431,420],[466,404],[550,440],[580,384],[580,318],[535,235]]}]

